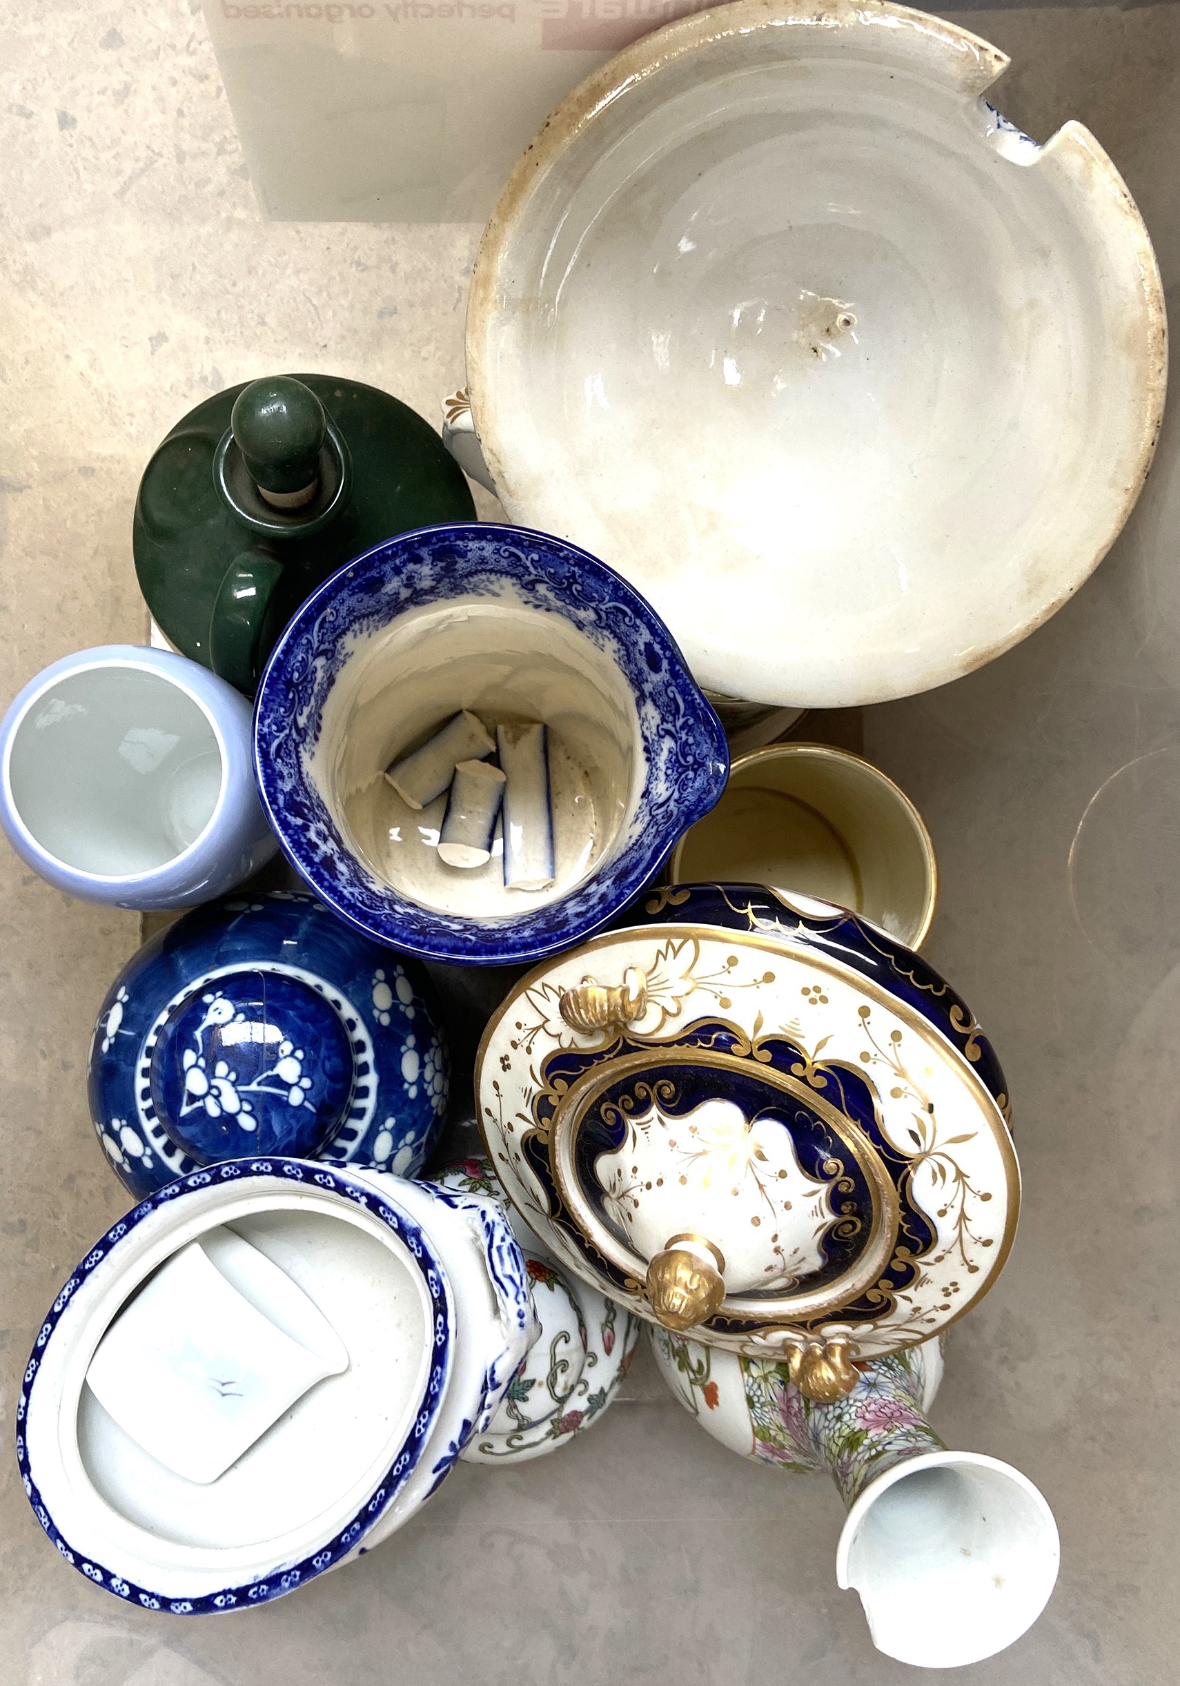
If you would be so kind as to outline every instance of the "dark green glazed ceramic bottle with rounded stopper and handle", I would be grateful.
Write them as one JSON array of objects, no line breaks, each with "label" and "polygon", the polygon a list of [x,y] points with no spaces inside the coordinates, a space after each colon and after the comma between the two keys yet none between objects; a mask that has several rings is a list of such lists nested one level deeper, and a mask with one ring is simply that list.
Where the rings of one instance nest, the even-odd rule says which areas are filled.
[{"label": "dark green glazed ceramic bottle with rounded stopper and handle", "polygon": [[[172,428],[140,482],[133,529],[135,572],[157,626],[248,695],[278,634],[329,573],[398,533],[475,516],[438,435],[388,393],[325,374],[249,384],[236,415],[244,384]],[[308,465],[315,491],[292,502]]]}]

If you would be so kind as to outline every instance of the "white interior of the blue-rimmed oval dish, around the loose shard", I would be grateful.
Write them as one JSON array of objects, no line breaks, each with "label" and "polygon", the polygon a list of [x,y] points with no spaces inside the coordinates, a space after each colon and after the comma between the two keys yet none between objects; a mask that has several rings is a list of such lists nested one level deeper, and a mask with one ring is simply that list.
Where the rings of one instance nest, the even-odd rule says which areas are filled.
[{"label": "white interior of the blue-rimmed oval dish, around the loose shard", "polygon": [[[216,1205],[165,1209],[182,1222],[157,1222],[147,1244],[115,1254],[120,1271],[81,1327],[59,1325],[49,1344],[27,1426],[34,1480],[71,1546],[167,1597],[249,1581],[325,1544],[393,1463],[421,1408],[432,1354],[420,1268],[386,1224],[310,1190],[236,1202],[214,1192]],[[319,1307],[344,1340],[349,1369],[305,1393],[223,1477],[197,1485],[142,1452],[84,1376],[128,1293],[221,1224]]]}]

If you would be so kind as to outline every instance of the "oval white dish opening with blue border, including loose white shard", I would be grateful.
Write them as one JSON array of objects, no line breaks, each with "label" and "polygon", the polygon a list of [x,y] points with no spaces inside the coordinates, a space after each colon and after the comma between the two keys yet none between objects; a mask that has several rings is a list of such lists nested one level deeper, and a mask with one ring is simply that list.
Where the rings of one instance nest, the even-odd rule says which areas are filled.
[{"label": "oval white dish opening with blue border, including loose white shard", "polygon": [[179,1614],[261,1603],[383,1519],[457,1337],[400,1187],[238,1160],[148,1195],[78,1264],[24,1377],[19,1458],[91,1581]]}]

